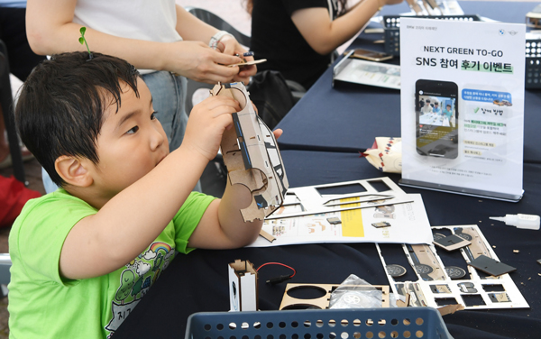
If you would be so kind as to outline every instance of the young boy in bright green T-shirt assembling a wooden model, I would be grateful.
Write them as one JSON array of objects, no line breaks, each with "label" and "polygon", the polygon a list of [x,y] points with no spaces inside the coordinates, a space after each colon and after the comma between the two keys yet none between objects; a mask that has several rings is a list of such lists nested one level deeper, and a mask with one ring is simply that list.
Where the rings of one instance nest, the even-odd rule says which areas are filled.
[{"label": "young boy in bright green T-shirt assembling a wooden model", "polygon": [[209,97],[169,153],[151,93],[126,61],[74,52],[34,69],[16,122],[61,188],[31,200],[12,228],[10,337],[108,337],[175,251],[252,243],[262,222],[243,222],[247,188],[228,185],[221,200],[191,192],[239,110]]}]

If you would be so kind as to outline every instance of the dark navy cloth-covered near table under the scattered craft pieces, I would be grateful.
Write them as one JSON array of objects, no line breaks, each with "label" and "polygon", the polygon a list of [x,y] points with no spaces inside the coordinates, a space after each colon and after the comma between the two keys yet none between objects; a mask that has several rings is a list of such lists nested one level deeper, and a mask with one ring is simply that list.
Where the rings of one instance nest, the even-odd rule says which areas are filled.
[{"label": "dark navy cloth-covered near table under the scattered craft pieces", "polygon": [[[371,179],[386,174],[373,168],[354,153],[324,151],[282,151],[292,187],[330,182]],[[505,214],[541,215],[541,165],[524,169],[526,193],[518,203],[478,197],[464,197],[417,188],[433,225],[478,224],[500,261],[517,270],[510,273],[530,308],[460,311],[444,316],[454,338],[538,338],[541,333],[541,231],[522,230],[489,220]],[[389,175],[398,181],[399,175]],[[525,185],[526,186],[526,185]],[[513,250],[519,250],[518,253]],[[389,285],[373,243],[304,244],[271,248],[243,248],[230,251],[196,250],[180,254],[132,314],[124,320],[115,338],[179,337],[186,330],[189,315],[195,312],[229,309],[227,265],[236,259],[251,261],[256,267],[278,261],[292,266],[297,274],[288,282],[339,284],[350,274],[371,284]],[[261,270],[259,307],[280,307],[285,283],[270,286],[263,281],[289,274],[280,266]]]}]

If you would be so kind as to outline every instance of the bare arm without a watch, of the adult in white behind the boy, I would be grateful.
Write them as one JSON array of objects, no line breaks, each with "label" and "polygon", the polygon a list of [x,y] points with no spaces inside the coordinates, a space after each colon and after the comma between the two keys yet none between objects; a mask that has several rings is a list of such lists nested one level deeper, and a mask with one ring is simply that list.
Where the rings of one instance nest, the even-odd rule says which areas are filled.
[{"label": "bare arm without a watch, of the adult in white behind the boy", "polygon": [[[34,52],[46,55],[86,50],[86,47],[78,42],[81,25],[73,23],[76,5],[77,0],[28,1],[26,29]],[[197,20],[195,17],[194,19]],[[209,33],[209,30],[205,30],[201,35]],[[234,57],[233,53],[227,55],[212,50],[207,45],[208,40],[206,43],[142,41],[117,37],[88,27],[85,37],[92,51],[128,60],[137,69],[169,70],[208,83],[229,82],[239,72],[237,67],[227,68],[220,64],[230,65],[238,63],[240,59]]]}]

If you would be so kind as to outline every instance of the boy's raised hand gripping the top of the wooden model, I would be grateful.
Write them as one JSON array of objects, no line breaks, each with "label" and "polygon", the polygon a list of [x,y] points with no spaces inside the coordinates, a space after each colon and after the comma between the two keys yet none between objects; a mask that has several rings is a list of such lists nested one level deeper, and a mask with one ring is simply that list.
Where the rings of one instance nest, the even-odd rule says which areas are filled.
[{"label": "boy's raised hand gripping the top of the wooden model", "polygon": [[233,113],[241,110],[228,96],[210,96],[192,109],[182,146],[213,160],[220,149],[225,129],[233,127]]}]

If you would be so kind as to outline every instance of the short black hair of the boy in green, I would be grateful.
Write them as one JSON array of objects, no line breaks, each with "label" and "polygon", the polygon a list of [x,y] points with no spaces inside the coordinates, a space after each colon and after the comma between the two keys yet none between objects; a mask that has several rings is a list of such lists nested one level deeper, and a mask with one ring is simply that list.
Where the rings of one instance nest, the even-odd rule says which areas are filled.
[{"label": "short black hair of the boy in green", "polygon": [[[15,107],[15,122],[29,151],[62,187],[54,168],[61,155],[99,159],[96,140],[109,105],[121,105],[124,84],[137,90],[139,72],[127,61],[88,52],[53,55],[33,69]],[[125,90],[125,89],[124,89]]]}]

